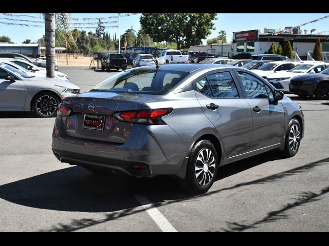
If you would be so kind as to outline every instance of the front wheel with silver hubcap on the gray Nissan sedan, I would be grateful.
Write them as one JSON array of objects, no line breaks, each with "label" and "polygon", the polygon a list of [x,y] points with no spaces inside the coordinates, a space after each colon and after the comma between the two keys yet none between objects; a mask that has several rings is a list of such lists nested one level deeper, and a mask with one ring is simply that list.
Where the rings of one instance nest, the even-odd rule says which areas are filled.
[{"label": "front wheel with silver hubcap on the gray Nissan sedan", "polygon": [[293,157],[297,154],[300,146],[302,129],[297,119],[291,119],[287,128],[284,149],[282,155],[284,157]]}]

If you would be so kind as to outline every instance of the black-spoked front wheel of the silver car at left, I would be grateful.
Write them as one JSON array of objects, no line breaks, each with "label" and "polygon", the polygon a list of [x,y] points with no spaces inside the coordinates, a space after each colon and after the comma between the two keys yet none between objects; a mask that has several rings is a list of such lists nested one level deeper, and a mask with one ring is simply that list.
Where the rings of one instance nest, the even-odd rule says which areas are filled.
[{"label": "black-spoked front wheel of the silver car at left", "polygon": [[57,106],[60,104],[59,97],[52,92],[36,94],[32,101],[33,113],[38,117],[54,117],[57,115]]}]

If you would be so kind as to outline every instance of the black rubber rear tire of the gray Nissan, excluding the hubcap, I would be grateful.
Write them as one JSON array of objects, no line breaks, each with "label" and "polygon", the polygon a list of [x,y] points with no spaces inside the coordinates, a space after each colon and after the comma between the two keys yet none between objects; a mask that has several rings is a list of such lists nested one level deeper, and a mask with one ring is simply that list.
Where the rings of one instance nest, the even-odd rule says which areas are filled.
[{"label": "black rubber rear tire of the gray Nissan, excluding the hubcap", "polygon": [[[201,186],[199,185],[195,177],[195,165],[199,151],[204,148],[210,149],[212,151],[216,163],[215,163],[215,172],[211,181],[208,183],[208,185]],[[218,170],[218,155],[214,145],[209,140],[198,141],[190,152],[187,173],[186,173],[186,180],[188,182],[191,191],[196,194],[207,192],[210,189],[210,187],[213,185],[214,180],[216,179],[217,170]]]}]

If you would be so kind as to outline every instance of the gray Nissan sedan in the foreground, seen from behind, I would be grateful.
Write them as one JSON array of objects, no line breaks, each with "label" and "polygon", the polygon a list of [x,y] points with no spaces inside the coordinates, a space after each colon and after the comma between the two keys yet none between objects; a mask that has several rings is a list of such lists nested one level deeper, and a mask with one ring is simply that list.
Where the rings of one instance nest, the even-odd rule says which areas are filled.
[{"label": "gray Nissan sedan in the foreground, seen from behind", "polygon": [[199,194],[218,166],[273,149],[294,156],[303,134],[300,106],[249,70],[145,66],[65,97],[52,151],[94,173],[175,175]]}]

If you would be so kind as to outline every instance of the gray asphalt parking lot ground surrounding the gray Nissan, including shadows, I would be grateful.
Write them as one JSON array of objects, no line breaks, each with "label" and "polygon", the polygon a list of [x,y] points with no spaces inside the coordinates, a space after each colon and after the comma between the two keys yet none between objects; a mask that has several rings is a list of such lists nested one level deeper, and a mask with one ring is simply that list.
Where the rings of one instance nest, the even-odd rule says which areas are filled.
[{"label": "gray asphalt parking lot ground surrounding the gray Nissan, including shadows", "polygon": [[[85,91],[117,72],[60,68]],[[97,176],[51,151],[54,118],[0,113],[0,232],[328,232],[329,101],[302,99],[298,154],[267,152],[218,169],[208,193],[173,178]]]}]

